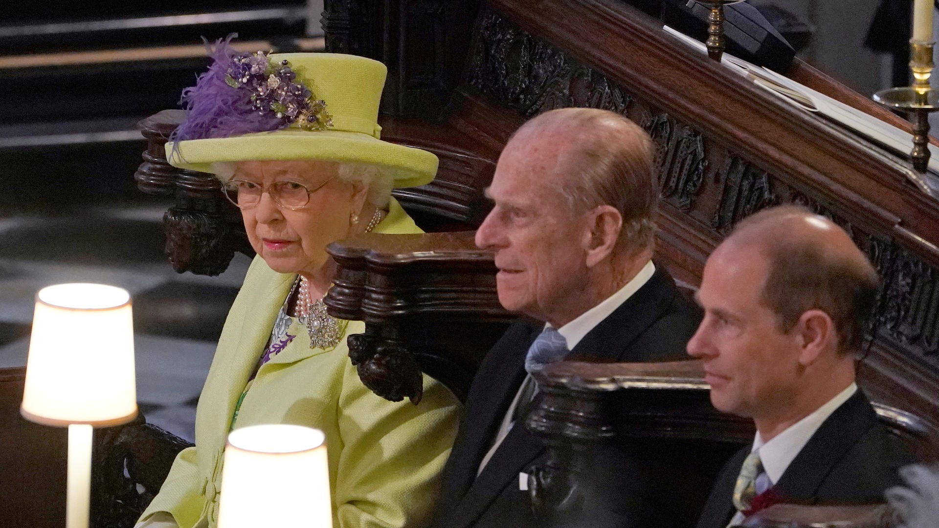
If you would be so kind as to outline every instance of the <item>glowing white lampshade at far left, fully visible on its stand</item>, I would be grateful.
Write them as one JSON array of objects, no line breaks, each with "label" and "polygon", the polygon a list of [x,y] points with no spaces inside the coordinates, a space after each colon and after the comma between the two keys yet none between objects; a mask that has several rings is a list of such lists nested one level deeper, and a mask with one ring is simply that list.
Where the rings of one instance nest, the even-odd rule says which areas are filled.
[{"label": "glowing white lampshade at far left, fully visible on its stand", "polygon": [[20,412],[53,426],[97,427],[137,415],[131,295],[103,284],[39,290]]}]

